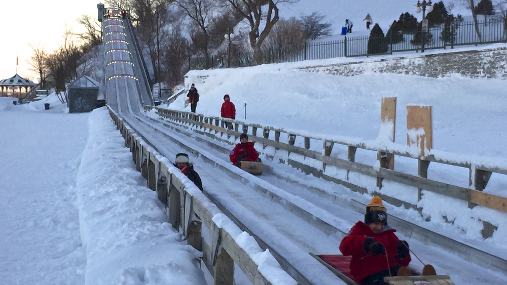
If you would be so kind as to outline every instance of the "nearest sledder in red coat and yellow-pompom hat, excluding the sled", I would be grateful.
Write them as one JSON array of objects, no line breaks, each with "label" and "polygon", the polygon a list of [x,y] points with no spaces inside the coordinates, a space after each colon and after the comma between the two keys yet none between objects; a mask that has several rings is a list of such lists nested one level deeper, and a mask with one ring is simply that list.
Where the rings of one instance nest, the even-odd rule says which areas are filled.
[{"label": "nearest sledder in red coat and yellow-pompom hat, excluding the sled", "polygon": [[361,285],[388,284],[386,276],[396,276],[408,266],[408,243],[398,239],[396,230],[387,225],[387,213],[380,197],[366,206],[365,222],[358,221],[340,243],[344,256],[352,256],[350,273]]}]

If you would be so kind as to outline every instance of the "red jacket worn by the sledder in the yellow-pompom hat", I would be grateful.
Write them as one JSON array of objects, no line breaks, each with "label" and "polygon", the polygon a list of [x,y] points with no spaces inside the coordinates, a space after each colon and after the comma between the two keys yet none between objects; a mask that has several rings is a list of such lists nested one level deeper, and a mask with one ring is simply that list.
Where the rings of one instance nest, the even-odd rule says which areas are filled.
[{"label": "red jacket worn by the sledder in the yellow-pompom hat", "polygon": [[371,252],[365,251],[363,244],[368,237],[373,237],[384,245],[389,259],[389,267],[409,265],[411,260],[410,254],[405,258],[397,256],[396,245],[399,239],[394,234],[395,231],[395,229],[386,226],[383,232],[375,234],[368,225],[359,221],[350,229],[349,234],[342,239],[340,251],[345,256],[352,256],[350,273],[356,282],[388,268],[385,255],[374,256]]}]

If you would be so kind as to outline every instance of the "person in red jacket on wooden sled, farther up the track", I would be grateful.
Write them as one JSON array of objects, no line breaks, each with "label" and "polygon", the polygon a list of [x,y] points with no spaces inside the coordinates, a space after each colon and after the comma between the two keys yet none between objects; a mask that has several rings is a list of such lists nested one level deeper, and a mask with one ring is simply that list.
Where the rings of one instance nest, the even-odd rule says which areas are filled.
[{"label": "person in red jacket on wooden sled, farther up the track", "polygon": [[263,164],[259,158],[259,153],[253,148],[255,142],[249,142],[246,134],[241,134],[239,141],[240,143],[229,154],[232,164],[250,174],[261,175]]}]

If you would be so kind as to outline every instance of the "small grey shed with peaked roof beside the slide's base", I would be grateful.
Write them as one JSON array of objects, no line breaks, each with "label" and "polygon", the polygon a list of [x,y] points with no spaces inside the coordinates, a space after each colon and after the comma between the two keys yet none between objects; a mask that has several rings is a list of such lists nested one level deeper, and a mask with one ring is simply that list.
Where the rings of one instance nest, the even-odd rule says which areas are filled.
[{"label": "small grey shed with peaked roof beside the slide's base", "polygon": [[99,86],[98,82],[86,75],[74,80],[68,87],[69,113],[91,112],[97,103]]}]

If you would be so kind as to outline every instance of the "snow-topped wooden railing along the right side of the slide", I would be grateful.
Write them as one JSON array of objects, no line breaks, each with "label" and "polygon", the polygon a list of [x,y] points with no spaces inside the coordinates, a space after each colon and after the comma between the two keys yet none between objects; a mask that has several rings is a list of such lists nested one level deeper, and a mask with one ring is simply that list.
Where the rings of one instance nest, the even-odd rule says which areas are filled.
[{"label": "snow-topped wooden railing along the right side of the slide", "polygon": [[[151,106],[145,106],[146,110],[152,109]],[[350,142],[345,140],[328,139],[324,137],[308,136],[295,131],[286,131],[269,126],[261,126],[257,124],[247,124],[239,120],[232,120],[222,117],[206,116],[199,113],[190,113],[184,111],[168,110],[164,108],[155,108],[157,113],[169,121],[176,124],[187,126],[203,135],[210,136],[217,140],[223,140],[222,136],[227,135],[239,137],[241,133],[247,133],[252,141],[260,143],[263,148],[267,146],[273,147],[274,151],[282,150],[288,153],[296,153],[306,158],[319,160],[322,163],[321,168],[309,167],[287,156],[285,161],[295,167],[301,168],[307,173],[321,176],[325,179],[344,184],[352,190],[367,192],[367,189],[354,185],[349,178],[349,173],[363,174],[377,180],[377,187],[382,188],[383,181],[393,181],[404,185],[412,186],[418,189],[417,201],[421,200],[423,190],[438,193],[453,199],[466,201],[469,208],[476,205],[494,209],[507,213],[507,198],[499,195],[483,192],[488,185],[490,177],[493,173],[507,175],[507,167],[496,166],[491,167],[476,161],[455,161],[453,155],[449,158],[436,158],[434,155],[418,156],[418,152],[410,151],[407,146],[389,145],[387,148],[378,148],[373,142]],[[229,129],[224,128],[227,122],[231,126]],[[346,148],[347,158],[338,158],[338,154],[334,154],[333,150],[338,146]],[[356,152],[367,150],[370,152],[369,157],[378,160],[380,167],[374,168],[375,160],[369,161],[368,165],[356,162]],[[401,156],[413,159],[417,162],[417,174],[412,175],[400,171],[388,169],[389,161],[394,156]],[[439,166],[451,166],[466,169],[468,171],[468,181],[460,181],[462,185],[468,185],[468,188],[458,186],[453,182],[442,182],[430,179],[428,177],[429,164],[438,164]],[[325,167],[333,166],[346,171],[345,179],[329,177],[322,174]],[[454,179],[454,178],[453,178]],[[441,179],[442,180],[442,179]],[[506,179],[507,180],[507,179]],[[379,192],[374,193],[380,195],[389,203],[395,206],[410,207],[419,211],[416,203],[401,200],[397,197],[390,197]],[[490,221],[492,225],[498,225],[495,221]],[[494,228],[496,230],[496,228]],[[485,236],[485,238],[488,236]]]}]

